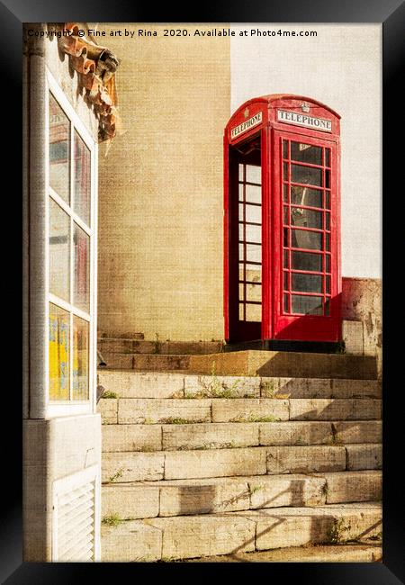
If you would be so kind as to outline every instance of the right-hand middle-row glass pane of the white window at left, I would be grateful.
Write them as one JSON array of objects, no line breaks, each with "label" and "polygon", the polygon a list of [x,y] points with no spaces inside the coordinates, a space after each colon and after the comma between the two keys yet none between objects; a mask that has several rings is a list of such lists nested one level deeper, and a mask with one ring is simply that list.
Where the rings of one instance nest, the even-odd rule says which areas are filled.
[{"label": "right-hand middle-row glass pane of the white window at left", "polygon": [[75,223],[75,279],[73,304],[83,311],[90,311],[90,238]]}]

